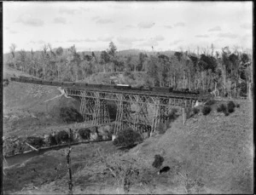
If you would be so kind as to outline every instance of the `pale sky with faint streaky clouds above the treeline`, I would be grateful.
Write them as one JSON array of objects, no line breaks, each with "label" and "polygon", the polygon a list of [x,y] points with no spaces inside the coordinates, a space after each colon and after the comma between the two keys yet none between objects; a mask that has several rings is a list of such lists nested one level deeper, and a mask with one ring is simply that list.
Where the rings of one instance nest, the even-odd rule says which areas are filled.
[{"label": "pale sky with faint streaky clouds above the treeline", "polygon": [[78,51],[253,49],[252,2],[3,2],[3,53],[76,46]]}]

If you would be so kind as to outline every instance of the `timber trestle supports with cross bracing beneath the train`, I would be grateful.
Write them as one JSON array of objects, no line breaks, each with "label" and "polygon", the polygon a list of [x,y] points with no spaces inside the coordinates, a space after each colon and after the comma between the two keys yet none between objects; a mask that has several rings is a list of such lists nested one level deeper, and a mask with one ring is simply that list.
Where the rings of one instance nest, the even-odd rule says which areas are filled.
[{"label": "timber trestle supports with cross bracing beneath the train", "polygon": [[89,89],[67,89],[66,91],[69,96],[80,97],[80,112],[84,121],[92,121],[95,125],[109,123],[107,101],[113,100],[117,105],[114,134],[127,127],[139,133],[154,132],[160,123],[166,124],[173,108],[181,110],[192,107],[196,100],[195,97],[118,94]]}]

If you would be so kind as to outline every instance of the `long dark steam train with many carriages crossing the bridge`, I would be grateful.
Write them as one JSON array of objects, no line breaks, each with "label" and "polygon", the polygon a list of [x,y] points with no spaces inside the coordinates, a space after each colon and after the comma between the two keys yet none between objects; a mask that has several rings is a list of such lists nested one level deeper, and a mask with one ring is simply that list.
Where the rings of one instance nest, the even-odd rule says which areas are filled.
[{"label": "long dark steam train with many carriages crossing the bridge", "polygon": [[11,81],[21,82],[21,83],[36,83],[42,85],[51,86],[63,86],[63,87],[73,87],[76,89],[119,89],[119,90],[131,90],[131,91],[148,91],[154,93],[163,94],[176,94],[176,95],[201,95],[199,90],[189,90],[189,89],[173,89],[172,87],[131,87],[129,84],[91,84],[91,83],[81,83],[81,82],[57,82],[57,81],[44,81],[39,78],[33,77],[11,77]]}]

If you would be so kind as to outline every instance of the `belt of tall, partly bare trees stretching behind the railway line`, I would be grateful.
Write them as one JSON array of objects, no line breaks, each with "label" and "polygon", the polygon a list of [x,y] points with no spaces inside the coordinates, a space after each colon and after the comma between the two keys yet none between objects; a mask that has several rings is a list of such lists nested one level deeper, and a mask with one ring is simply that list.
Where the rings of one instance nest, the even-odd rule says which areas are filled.
[{"label": "belt of tall, partly bare trees stretching behind the railway line", "polygon": [[118,51],[111,42],[103,51],[78,52],[75,45],[68,49],[53,49],[44,44],[42,50],[17,50],[15,43],[4,54],[4,66],[33,77],[50,81],[83,81],[99,72],[144,72],[148,86],[173,89],[198,89],[215,96],[251,98],[253,83],[252,54],[214,49],[197,51],[148,52]]}]

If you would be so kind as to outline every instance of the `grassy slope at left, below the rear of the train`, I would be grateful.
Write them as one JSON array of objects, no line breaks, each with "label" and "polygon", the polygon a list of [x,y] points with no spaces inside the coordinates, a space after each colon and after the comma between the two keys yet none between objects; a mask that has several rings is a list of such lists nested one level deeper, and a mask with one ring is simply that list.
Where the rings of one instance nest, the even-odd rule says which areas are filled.
[{"label": "grassy slope at left, below the rear of the train", "polygon": [[[5,77],[13,74],[28,76],[12,69],[4,72]],[[56,95],[61,95],[56,87],[9,81],[9,85],[3,88],[4,136],[46,133],[45,130],[50,131],[49,126],[61,123],[61,106],[79,109],[79,101],[73,98],[61,96],[49,100]]]}]

